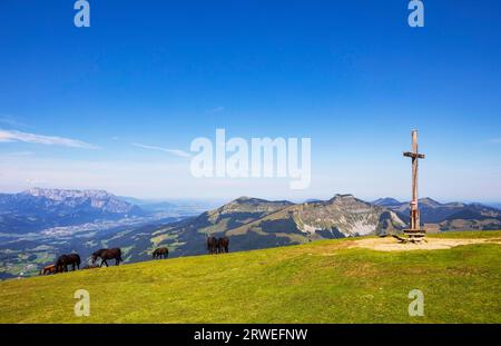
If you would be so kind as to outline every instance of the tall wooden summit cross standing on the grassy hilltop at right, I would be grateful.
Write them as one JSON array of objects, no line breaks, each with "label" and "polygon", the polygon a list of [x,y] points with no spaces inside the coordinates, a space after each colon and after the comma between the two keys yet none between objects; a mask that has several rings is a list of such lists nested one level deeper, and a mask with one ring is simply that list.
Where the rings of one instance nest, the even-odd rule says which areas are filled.
[{"label": "tall wooden summit cross standing on the grassy hilltop at right", "polygon": [[412,131],[412,151],[403,154],[405,157],[412,158],[412,201],[411,201],[411,228],[404,233],[410,238],[423,238],[426,231],[421,228],[420,209],[418,206],[418,161],[424,159],[424,154],[418,150],[418,130]]}]

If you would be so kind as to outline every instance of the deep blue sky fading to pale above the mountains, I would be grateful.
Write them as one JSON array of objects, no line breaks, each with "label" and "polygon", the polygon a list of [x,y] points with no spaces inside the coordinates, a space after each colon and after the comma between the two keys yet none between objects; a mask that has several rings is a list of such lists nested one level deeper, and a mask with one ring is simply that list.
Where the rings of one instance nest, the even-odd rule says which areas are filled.
[{"label": "deep blue sky fading to pale above the mountains", "polygon": [[[418,128],[422,196],[501,200],[497,0],[89,2],[0,2],[1,191],[409,199]],[[311,187],[193,178],[168,150],[216,128],[312,138]]]}]

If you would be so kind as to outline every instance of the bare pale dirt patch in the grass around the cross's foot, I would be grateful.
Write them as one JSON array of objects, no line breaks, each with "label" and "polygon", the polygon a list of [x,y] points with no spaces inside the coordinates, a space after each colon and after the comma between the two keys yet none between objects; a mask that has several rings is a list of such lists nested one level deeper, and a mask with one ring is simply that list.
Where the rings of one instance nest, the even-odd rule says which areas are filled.
[{"label": "bare pale dirt patch in the grass around the cross's foot", "polygon": [[471,244],[501,244],[501,238],[495,239],[445,239],[426,238],[420,244],[401,244],[393,237],[370,238],[352,241],[351,247],[362,247],[377,251],[412,251],[412,250],[442,250],[455,246]]}]

